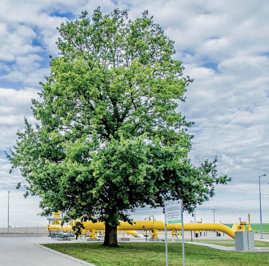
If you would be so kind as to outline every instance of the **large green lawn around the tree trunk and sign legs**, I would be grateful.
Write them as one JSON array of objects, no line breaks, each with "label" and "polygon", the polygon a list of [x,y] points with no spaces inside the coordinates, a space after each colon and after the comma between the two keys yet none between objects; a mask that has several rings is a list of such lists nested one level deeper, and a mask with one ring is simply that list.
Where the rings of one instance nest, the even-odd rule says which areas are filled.
[{"label": "large green lawn around the tree trunk and sign legs", "polygon": [[[164,243],[120,243],[119,248],[100,243],[45,244],[67,255],[97,266],[165,265]],[[185,245],[186,266],[268,266],[267,252],[228,252],[195,245]],[[182,265],[182,245],[168,244],[169,266]]]}]

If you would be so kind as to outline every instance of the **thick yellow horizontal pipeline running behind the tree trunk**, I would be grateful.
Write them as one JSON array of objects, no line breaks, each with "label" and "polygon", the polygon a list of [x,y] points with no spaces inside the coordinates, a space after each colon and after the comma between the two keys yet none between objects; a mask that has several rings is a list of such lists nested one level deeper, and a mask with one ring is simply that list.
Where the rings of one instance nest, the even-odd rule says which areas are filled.
[{"label": "thick yellow horizontal pipeline running behind the tree trunk", "polygon": [[[153,227],[154,223],[154,227]],[[72,225],[75,224],[75,221]],[[92,223],[91,221],[84,222],[86,230],[105,230],[105,224],[102,222]],[[117,230],[165,230],[164,222],[162,221],[134,221],[133,225],[127,222],[120,221],[120,226],[117,226]],[[167,224],[167,230],[181,230],[181,223]],[[219,223],[185,223],[184,230],[186,231],[221,231],[234,239],[234,231],[230,227]],[[237,230],[236,230],[237,231]]]}]

